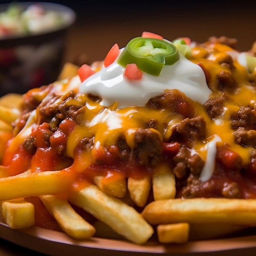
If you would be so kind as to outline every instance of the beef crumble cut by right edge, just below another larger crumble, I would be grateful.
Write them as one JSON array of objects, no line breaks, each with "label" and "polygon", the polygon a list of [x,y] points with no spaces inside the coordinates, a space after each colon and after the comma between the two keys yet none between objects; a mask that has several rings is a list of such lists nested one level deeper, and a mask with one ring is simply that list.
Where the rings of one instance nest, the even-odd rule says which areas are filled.
[{"label": "beef crumble cut by right edge, just below another larger crumble", "polygon": [[233,135],[237,144],[256,148],[256,130],[246,130],[244,127],[239,127],[233,132]]}]

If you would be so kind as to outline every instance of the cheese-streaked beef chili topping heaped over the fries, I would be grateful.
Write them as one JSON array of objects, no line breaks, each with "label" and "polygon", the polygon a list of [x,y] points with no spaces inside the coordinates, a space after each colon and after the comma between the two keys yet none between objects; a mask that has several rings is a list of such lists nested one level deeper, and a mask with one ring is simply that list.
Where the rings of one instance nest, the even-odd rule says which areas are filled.
[{"label": "cheese-streaked beef chili topping heaped over the fries", "polygon": [[[18,134],[36,111],[38,127],[22,147],[32,163],[34,156],[50,151],[58,159],[52,168],[75,163],[85,174],[97,168],[123,171],[126,177],[131,169],[151,174],[166,162],[175,175],[176,197],[256,198],[256,112],[251,104],[256,96],[249,88],[255,72],[249,74],[229,55],[235,43],[213,37],[192,49],[189,59],[202,67],[212,91],[204,105],[177,89],[144,107],[128,108],[106,108],[100,97],[77,90],[57,94],[53,85],[33,89],[24,95],[22,116],[13,124]],[[209,159],[212,175],[204,180]]]}]

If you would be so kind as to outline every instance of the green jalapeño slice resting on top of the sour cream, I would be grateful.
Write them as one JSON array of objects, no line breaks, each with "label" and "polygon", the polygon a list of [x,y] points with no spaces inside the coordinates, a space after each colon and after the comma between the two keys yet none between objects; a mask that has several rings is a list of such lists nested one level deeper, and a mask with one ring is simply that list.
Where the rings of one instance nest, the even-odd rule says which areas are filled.
[{"label": "green jalape\u00f1o slice resting on top of the sour cream", "polygon": [[156,38],[136,37],[130,40],[117,63],[123,67],[136,63],[139,70],[159,76],[164,65],[172,65],[180,58],[172,43]]}]

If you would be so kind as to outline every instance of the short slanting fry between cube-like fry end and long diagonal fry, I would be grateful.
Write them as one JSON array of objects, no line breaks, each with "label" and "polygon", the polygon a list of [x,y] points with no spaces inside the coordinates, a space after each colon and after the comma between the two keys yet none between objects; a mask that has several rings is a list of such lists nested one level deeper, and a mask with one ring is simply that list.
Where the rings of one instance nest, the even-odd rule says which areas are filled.
[{"label": "short slanting fry between cube-like fry end and long diagonal fry", "polygon": [[67,200],[54,195],[42,195],[40,200],[68,235],[76,239],[88,239],[94,235],[95,228],[76,213]]}]

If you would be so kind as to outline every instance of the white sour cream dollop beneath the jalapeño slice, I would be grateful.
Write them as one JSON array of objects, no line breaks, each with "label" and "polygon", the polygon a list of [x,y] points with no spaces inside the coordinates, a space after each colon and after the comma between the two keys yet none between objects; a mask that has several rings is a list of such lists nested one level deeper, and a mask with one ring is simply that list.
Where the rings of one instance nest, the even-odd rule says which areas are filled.
[{"label": "white sour cream dollop beneath the jalape\u00f1o slice", "polygon": [[123,76],[124,70],[115,61],[83,81],[79,92],[100,97],[100,104],[105,107],[117,102],[119,108],[145,106],[151,98],[162,95],[165,90],[180,90],[186,97],[201,104],[211,94],[202,68],[182,54],[173,65],[164,65],[159,76],[143,73],[142,79],[132,81]]}]

